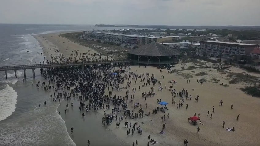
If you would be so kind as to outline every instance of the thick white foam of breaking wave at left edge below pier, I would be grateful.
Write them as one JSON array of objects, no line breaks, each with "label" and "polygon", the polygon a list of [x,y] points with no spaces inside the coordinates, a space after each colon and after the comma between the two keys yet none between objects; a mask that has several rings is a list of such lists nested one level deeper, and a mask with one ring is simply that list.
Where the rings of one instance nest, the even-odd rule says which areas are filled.
[{"label": "thick white foam of breaking wave at left edge below pier", "polygon": [[6,88],[0,90],[0,121],[13,114],[16,108],[17,92],[8,84]]}]

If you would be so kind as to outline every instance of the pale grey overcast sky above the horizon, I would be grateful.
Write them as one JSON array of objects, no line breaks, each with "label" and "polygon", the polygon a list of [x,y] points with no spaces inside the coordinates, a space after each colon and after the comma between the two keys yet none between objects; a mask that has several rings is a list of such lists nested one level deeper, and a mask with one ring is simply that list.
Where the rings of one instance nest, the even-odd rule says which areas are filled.
[{"label": "pale grey overcast sky above the horizon", "polygon": [[0,23],[254,25],[260,0],[0,0]]}]

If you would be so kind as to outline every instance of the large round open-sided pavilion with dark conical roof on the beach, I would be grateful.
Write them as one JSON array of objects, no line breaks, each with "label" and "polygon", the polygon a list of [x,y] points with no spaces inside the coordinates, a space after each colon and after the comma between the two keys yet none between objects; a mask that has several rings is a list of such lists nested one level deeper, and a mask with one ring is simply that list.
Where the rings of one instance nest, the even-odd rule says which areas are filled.
[{"label": "large round open-sided pavilion with dark conical roof on the beach", "polygon": [[166,65],[177,64],[180,52],[165,45],[152,42],[127,52],[134,64]]}]

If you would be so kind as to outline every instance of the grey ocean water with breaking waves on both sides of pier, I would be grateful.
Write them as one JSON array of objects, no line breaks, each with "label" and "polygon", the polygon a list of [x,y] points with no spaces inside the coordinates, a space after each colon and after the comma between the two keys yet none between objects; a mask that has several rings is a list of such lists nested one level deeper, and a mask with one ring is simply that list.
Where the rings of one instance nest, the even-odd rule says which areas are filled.
[{"label": "grey ocean water with breaking waves on both sides of pier", "polygon": [[[0,66],[29,65],[44,60],[42,48],[31,35],[59,31],[122,29],[91,25],[0,24]],[[10,36],[24,34],[24,36]],[[52,92],[37,89],[37,81],[45,81],[35,70],[0,72],[0,145],[75,145],[58,114],[59,102],[50,99]],[[46,101],[46,107],[43,103]],[[39,103],[42,103],[39,108]],[[94,115],[93,115],[94,116]],[[98,119],[101,121],[101,119]],[[96,120],[97,122],[97,120]],[[95,127],[93,127],[95,128]],[[97,128],[97,127],[96,127]],[[98,133],[97,133],[98,134]],[[106,138],[109,140],[109,137]]]}]

